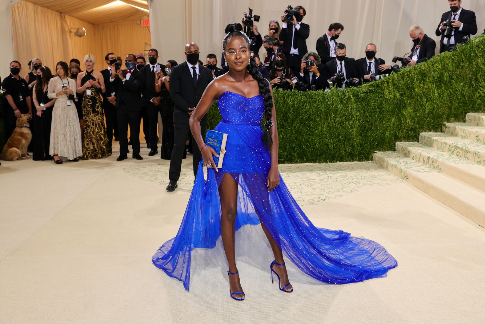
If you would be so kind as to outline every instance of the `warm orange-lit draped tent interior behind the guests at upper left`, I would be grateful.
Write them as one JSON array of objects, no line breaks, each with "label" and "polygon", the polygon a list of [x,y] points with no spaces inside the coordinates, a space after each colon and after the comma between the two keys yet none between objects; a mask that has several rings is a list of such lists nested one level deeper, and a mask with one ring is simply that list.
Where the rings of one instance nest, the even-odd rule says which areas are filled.
[{"label": "warm orange-lit draped tent interior behind the guests at upper left", "polygon": [[[34,57],[53,69],[58,61],[82,61],[90,53],[97,58],[96,68],[102,69],[106,53],[124,58],[151,44],[149,27],[140,23],[148,19],[146,0],[0,1],[6,8],[0,11],[4,31],[0,37],[6,44],[0,48],[2,78],[8,75],[8,63],[13,59],[22,64],[22,76]],[[84,27],[87,35],[75,36],[78,27]]]}]

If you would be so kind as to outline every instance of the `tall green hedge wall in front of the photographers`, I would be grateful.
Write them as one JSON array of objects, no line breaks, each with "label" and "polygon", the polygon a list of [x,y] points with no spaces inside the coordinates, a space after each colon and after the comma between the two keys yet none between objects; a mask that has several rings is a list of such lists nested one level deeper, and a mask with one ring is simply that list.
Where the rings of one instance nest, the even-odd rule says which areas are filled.
[{"label": "tall green hedge wall in front of the photographers", "polygon": [[[280,163],[366,161],[398,141],[485,111],[485,36],[382,81],[323,91],[276,90]],[[208,129],[221,120],[214,104]]]}]

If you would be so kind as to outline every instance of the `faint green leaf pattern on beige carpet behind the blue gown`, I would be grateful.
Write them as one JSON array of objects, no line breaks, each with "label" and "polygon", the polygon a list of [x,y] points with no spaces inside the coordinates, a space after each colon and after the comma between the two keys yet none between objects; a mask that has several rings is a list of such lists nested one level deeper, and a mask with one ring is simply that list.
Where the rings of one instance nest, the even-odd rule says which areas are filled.
[{"label": "faint green leaf pattern on beige carpet behind the blue gown", "polygon": [[[178,191],[190,192],[194,185],[192,159],[189,162],[184,162],[182,165]],[[168,163],[136,164],[123,168],[123,171],[144,181],[160,185],[162,187],[160,190],[164,190],[168,184],[168,169]],[[400,179],[372,162],[280,164],[279,171],[291,194],[301,205],[317,205],[369,187],[401,182]]]}]

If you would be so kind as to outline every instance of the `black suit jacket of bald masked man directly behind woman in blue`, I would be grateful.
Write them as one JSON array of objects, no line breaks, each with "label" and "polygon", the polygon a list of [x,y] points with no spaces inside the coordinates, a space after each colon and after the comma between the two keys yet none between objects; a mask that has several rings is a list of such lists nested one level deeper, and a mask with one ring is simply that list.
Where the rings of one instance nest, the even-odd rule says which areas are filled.
[{"label": "black suit jacket of bald masked man directly behind woman in blue", "polygon": [[[200,64],[197,85],[194,85],[187,61],[172,68],[169,85],[170,97],[175,103],[174,122],[189,123],[189,108],[197,106],[206,87],[212,80],[212,71]],[[207,114],[201,122],[207,122]]]}]

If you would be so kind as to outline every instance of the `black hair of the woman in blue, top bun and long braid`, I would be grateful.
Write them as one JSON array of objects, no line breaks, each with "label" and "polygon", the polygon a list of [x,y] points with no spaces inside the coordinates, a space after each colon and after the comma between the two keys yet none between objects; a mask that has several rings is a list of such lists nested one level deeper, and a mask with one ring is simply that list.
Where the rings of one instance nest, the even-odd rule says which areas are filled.
[{"label": "black hair of the woman in blue, top bun and long braid", "polygon": [[[242,32],[242,26],[240,23],[229,24],[226,26],[225,30],[226,36],[222,42],[222,47],[226,51],[227,42],[234,36],[242,37],[246,40],[249,45],[249,37]],[[270,130],[273,127],[273,120],[271,119],[273,110],[273,97],[271,96],[271,89],[268,80],[263,78],[261,72],[259,72],[259,67],[256,64],[254,58],[250,58],[249,65],[247,66],[248,73],[258,82],[259,94],[264,99],[264,130],[262,141],[267,149],[273,144],[273,139],[271,138]]]}]

